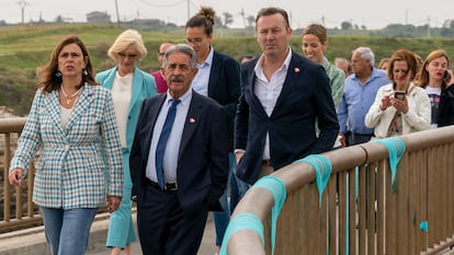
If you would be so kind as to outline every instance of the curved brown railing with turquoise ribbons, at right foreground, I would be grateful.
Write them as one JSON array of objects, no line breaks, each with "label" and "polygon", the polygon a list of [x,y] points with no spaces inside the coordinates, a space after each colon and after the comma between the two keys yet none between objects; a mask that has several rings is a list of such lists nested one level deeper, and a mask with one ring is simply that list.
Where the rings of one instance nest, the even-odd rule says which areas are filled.
[{"label": "curved brown railing with turquoise ribbons, at right foreground", "polygon": [[[406,152],[394,185],[388,148],[379,142],[324,154],[332,172],[321,204],[310,164],[294,163],[274,172],[271,176],[286,189],[274,254],[438,254],[453,245],[454,127],[399,138]],[[264,233],[237,228],[228,239],[228,254],[272,254],[274,196],[260,186],[245,195],[231,222],[252,215]]]}]

